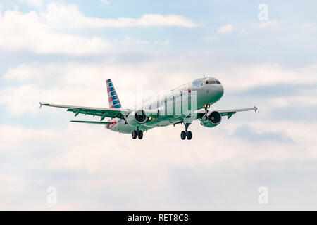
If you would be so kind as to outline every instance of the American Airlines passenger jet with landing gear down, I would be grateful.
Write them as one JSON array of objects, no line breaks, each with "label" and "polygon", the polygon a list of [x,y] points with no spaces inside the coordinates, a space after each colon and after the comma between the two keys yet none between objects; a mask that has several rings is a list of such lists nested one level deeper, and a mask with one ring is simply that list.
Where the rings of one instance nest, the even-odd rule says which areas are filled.
[{"label": "American Airlines passenger jet with landing gear down", "polygon": [[[241,108],[233,110],[209,110],[210,105],[216,103],[223,96],[223,85],[213,77],[202,77],[192,82],[178,86],[167,93],[147,99],[135,105],[134,108],[121,108],[116,89],[111,79],[106,80],[109,108],[92,108],[73,105],[56,105],[39,103],[42,106],[65,108],[67,111],[100,117],[100,121],[72,120],[88,124],[102,124],[111,131],[131,134],[132,139],[142,139],[143,132],[154,127],[184,124],[185,131],[181,131],[182,140],[191,140],[192,131],[188,127],[194,120],[200,120],[204,127],[216,127],[223,116],[228,119],[237,112],[258,110]],[[108,121],[104,121],[105,118]]]}]

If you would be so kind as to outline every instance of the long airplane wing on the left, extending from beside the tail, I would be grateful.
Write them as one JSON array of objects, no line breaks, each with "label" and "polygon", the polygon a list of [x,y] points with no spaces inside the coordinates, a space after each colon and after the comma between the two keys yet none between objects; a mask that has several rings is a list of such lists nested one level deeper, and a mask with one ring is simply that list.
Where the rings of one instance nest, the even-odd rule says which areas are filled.
[{"label": "long airplane wing on the left, extending from beside the tail", "polygon": [[65,108],[67,111],[75,113],[75,117],[79,114],[84,115],[93,115],[101,117],[100,121],[104,118],[124,118],[130,113],[130,110],[125,110],[122,108],[92,108],[92,107],[83,107],[83,106],[73,106],[73,105],[55,105],[55,104],[42,104],[39,103],[40,108],[42,106],[56,107],[56,108]]}]

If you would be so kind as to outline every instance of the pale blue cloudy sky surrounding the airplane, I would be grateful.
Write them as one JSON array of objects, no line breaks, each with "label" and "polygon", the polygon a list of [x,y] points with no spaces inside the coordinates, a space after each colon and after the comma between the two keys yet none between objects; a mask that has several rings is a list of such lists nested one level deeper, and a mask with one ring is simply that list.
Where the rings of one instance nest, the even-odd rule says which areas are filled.
[{"label": "pale blue cloudy sky surrounding the airplane", "polygon": [[[0,210],[317,210],[316,6],[0,1]],[[211,109],[258,112],[140,141],[39,110],[108,107],[109,78],[125,108],[203,75],[225,89]]]}]

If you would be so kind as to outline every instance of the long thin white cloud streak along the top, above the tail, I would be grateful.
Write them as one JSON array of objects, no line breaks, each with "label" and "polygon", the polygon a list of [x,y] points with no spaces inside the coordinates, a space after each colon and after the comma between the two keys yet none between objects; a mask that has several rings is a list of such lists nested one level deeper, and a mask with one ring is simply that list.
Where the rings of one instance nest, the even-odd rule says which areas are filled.
[{"label": "long thin white cloud streak along the top, above the tail", "polygon": [[181,15],[145,14],[140,18],[92,18],[80,13],[78,6],[49,4],[42,18],[58,29],[80,29],[101,27],[197,27],[192,20]]}]

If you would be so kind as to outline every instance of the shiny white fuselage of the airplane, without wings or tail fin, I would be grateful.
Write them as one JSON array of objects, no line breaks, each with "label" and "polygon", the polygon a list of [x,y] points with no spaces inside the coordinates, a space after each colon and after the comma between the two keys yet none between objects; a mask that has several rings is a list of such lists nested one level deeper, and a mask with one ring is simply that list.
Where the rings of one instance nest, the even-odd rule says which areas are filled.
[{"label": "shiny white fuselage of the airplane, without wings or tail fin", "polygon": [[[212,105],[223,96],[223,86],[213,77],[196,79],[194,82],[184,84],[168,93],[143,101],[136,109],[157,111],[159,116],[155,120],[147,120],[140,125],[139,130],[146,131],[154,127],[164,127],[182,122],[185,117],[204,105]],[[135,126],[131,126],[123,119],[111,119],[107,129],[120,133],[131,134]]]}]

